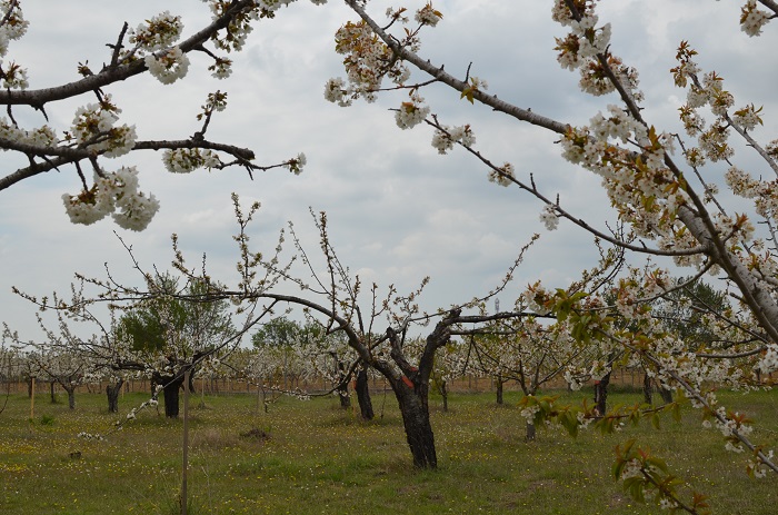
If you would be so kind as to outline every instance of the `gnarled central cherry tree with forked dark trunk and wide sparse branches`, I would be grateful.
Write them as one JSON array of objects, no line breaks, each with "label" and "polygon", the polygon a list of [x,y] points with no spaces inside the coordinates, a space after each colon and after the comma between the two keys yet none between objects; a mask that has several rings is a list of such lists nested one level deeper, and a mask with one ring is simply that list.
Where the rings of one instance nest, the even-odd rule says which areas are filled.
[{"label": "gnarled central cherry tree with forked dark trunk and wide sparse branches", "polygon": [[[326,365],[326,363],[332,359],[331,350],[335,350],[338,357],[338,365],[336,369],[332,369],[331,375],[336,383],[335,389],[343,380],[347,380],[345,378],[360,372],[359,367],[367,366],[380,374],[398,400],[413,464],[421,468],[437,467],[435,436],[429,417],[429,384],[435,367],[436,353],[451,341],[452,334],[461,333],[462,327],[472,327],[496,319],[532,315],[527,313],[481,315],[478,311],[475,315],[467,315],[463,313],[466,307],[482,309],[481,305],[487,299],[506,287],[512,278],[512,271],[521,263],[523,252],[531,244],[521,249],[519,257],[509,267],[509,273],[503,281],[495,290],[485,297],[441,309],[439,313],[427,314],[421,311],[418,298],[428,278],[423,278],[420,287],[408,295],[398,294],[393,286],[389,286],[386,294],[380,295],[378,285],[372,285],[367,293],[363,293],[359,276],[352,275],[335,252],[329,239],[326,214],[313,215],[320,235],[321,257],[319,259],[315,259],[305,249],[291,225],[289,232],[295,247],[292,255],[285,254],[286,231],[283,230],[275,251],[263,254],[253,250],[249,245],[248,227],[259,209],[259,204],[252,204],[245,212],[237,195],[233,195],[233,202],[239,226],[239,231],[233,239],[239,249],[237,269],[240,274],[240,280],[232,286],[221,285],[213,280],[206,268],[205,259],[201,265],[189,267],[183,252],[178,247],[178,239],[173,237],[174,269],[183,283],[198,285],[197,288],[171,288],[170,285],[177,284],[176,279],[170,276],[161,278],[159,275],[146,273],[142,274],[143,285],[123,285],[117,283],[108,270],[106,279],[79,275],[78,277],[81,277],[83,284],[93,288],[94,291],[90,296],[79,296],[76,303],[50,303],[31,295],[26,295],[26,297],[44,310],[71,311],[81,306],[108,303],[113,309],[121,309],[121,306],[124,305],[128,313],[132,313],[134,306],[141,306],[146,310],[149,310],[149,306],[151,306],[152,311],[160,311],[162,316],[147,317],[149,320],[140,324],[141,329],[152,326],[159,326],[163,329],[171,327],[173,329],[172,336],[168,338],[169,331],[166,330],[161,333],[141,330],[139,334],[146,335],[141,338],[144,343],[143,347],[149,347],[147,344],[152,344],[151,348],[141,350],[159,350],[152,354],[159,363],[150,367],[150,370],[159,369],[162,370],[160,374],[170,376],[167,377],[166,386],[178,380],[176,393],[178,385],[183,380],[182,370],[197,366],[213,350],[223,349],[228,344],[235,344],[237,336],[245,334],[260,320],[270,319],[277,310],[288,306],[303,309],[308,320],[318,320],[319,327],[323,328],[323,334],[343,335],[337,341],[342,341],[349,347],[348,353],[342,353],[338,348],[327,348],[326,353],[313,351],[315,356],[309,353],[308,360],[311,362],[315,360],[311,357],[318,357],[325,363],[325,365],[317,367],[319,370],[328,367],[332,369],[331,365]],[[128,251],[132,252],[130,248]],[[137,261],[136,267],[139,271],[142,270]],[[299,288],[302,294],[293,295],[285,291],[289,286]],[[226,300],[232,301],[237,306],[237,314],[243,315],[246,318],[240,330],[236,331],[236,336],[222,339],[210,349],[197,350],[190,346],[168,345],[168,339],[172,344],[181,340],[179,336],[176,336],[177,330],[174,330],[179,324],[171,323],[177,318],[176,311],[179,310],[177,306],[199,306]],[[363,304],[367,307],[362,307]],[[171,306],[176,307],[172,311],[167,309]],[[409,334],[411,328],[420,327],[423,329],[431,323],[435,323],[435,326],[431,329],[426,329],[427,336],[423,338],[423,347],[413,349],[413,346],[406,346],[412,337]],[[382,327],[383,331],[379,331],[379,327]],[[162,345],[161,348],[153,345],[158,339]],[[331,346],[331,344],[327,345]],[[313,345],[313,347],[320,346]],[[171,353],[172,359],[170,358]],[[349,355],[356,355],[356,358],[349,362]],[[341,368],[340,360],[345,356],[347,359],[345,363],[351,363],[351,365]],[[149,360],[146,359],[142,363],[149,363]],[[247,368],[250,366],[247,365]],[[269,372],[271,369],[258,369],[258,373],[263,375]],[[173,394],[171,393],[171,395]],[[166,404],[171,404],[170,400],[166,398]]]}]

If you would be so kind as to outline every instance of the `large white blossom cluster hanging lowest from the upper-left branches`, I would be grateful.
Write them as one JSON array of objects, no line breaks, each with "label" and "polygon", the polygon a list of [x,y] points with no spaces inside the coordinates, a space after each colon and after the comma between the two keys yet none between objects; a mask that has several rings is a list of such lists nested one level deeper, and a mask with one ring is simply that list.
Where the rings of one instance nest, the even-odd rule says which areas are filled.
[{"label": "large white blossom cluster hanging lowest from the upper-left branches", "polygon": [[111,214],[119,227],[143,230],[159,210],[153,195],[138,190],[138,170],[121,167],[102,174],[89,190],[62,195],[64,209],[73,224],[91,225]]}]

